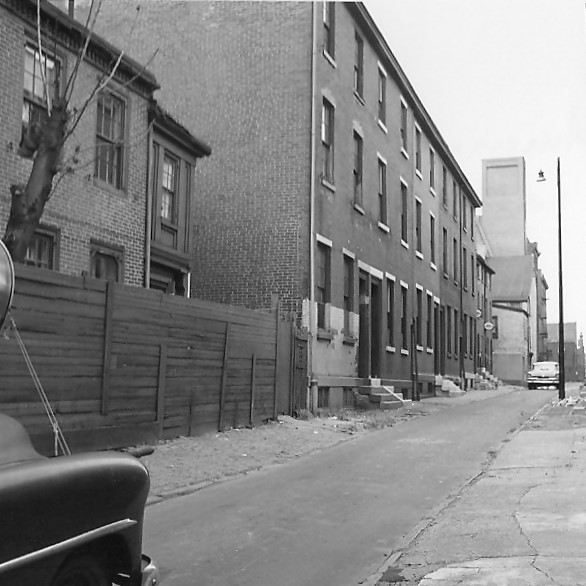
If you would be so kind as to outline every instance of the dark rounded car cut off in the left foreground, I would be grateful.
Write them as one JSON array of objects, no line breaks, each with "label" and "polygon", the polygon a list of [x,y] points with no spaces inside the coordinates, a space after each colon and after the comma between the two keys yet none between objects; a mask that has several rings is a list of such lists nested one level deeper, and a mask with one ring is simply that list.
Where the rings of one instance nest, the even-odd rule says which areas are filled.
[{"label": "dark rounded car cut off in the left foreground", "polygon": [[[13,289],[0,242],[0,329]],[[0,414],[0,584],[157,586],[142,554],[149,485],[129,454],[42,456],[21,423]]]}]

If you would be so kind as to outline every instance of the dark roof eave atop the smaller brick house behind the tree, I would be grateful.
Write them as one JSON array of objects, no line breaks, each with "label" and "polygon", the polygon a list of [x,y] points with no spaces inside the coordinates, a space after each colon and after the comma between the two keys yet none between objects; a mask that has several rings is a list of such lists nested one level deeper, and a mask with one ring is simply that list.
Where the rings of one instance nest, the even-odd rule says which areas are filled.
[{"label": "dark roof eave atop the smaller brick house behind the tree", "polygon": [[[22,16],[26,16],[27,10],[32,8],[36,9],[36,0],[0,0],[0,4]],[[79,37],[79,42],[83,43],[88,33],[84,24],[75,20],[66,12],[63,12],[63,10],[51,4],[48,0],[41,0],[41,12],[43,16],[51,19],[70,37]],[[107,56],[111,57],[113,61],[117,61],[120,58],[120,55],[122,55],[118,67],[119,71],[126,73],[131,78],[140,80],[151,92],[160,89],[161,86],[157,82],[155,76],[148,71],[144,65],[141,65],[138,61],[128,57],[123,51],[93,32],[91,33],[89,47],[100,53],[105,53]]]}]

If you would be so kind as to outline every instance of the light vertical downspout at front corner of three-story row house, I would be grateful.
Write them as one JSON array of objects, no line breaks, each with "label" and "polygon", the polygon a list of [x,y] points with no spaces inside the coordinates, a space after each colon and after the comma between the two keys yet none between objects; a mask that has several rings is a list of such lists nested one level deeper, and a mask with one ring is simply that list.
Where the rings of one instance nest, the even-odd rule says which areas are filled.
[{"label": "light vertical downspout at front corner of three-story row house", "polygon": [[[308,373],[309,384],[307,387],[307,407],[313,411],[317,406],[317,380],[313,374],[313,335],[316,332],[314,318],[315,302],[315,177],[316,177],[316,146],[315,146],[315,88],[317,85],[317,2],[312,3],[312,34],[311,34],[311,133],[310,133],[310,187],[309,187],[309,335],[307,338],[308,347]],[[315,397],[314,397],[315,395]],[[315,405],[314,405],[315,399]]]}]

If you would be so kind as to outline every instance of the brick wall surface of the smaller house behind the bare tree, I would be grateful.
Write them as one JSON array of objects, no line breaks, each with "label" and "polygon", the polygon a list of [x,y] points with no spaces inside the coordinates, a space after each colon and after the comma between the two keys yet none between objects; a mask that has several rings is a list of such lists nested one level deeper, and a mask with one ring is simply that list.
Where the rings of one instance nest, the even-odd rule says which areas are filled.
[{"label": "brick wall surface of the smaller house behind the bare tree", "polygon": [[[18,16],[0,6],[0,224],[10,211],[10,185],[24,182],[32,161],[17,155],[21,134],[25,31],[33,30]],[[71,71],[75,55],[60,44],[50,43]],[[79,107],[95,87],[98,71],[82,65],[71,107]],[[115,85],[114,85],[115,87]],[[125,169],[126,189],[110,189],[93,177],[96,102],[87,109],[68,140],[63,160],[79,147],[79,170],[65,177],[47,203],[41,223],[60,230],[59,271],[80,275],[90,268],[90,241],[99,240],[124,249],[124,281],[142,285],[144,280],[144,234],[147,176],[147,100],[128,88],[128,128]],[[3,228],[2,228],[3,231]]]}]

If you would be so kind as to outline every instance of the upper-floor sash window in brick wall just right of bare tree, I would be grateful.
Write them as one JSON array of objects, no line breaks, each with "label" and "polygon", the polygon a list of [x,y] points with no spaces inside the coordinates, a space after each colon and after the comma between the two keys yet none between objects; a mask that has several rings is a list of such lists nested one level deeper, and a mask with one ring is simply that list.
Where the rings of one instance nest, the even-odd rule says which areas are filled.
[{"label": "upper-floor sash window in brick wall just right of bare tree", "polygon": [[125,104],[109,92],[98,97],[95,176],[122,189]]}]

